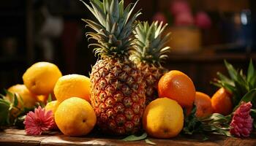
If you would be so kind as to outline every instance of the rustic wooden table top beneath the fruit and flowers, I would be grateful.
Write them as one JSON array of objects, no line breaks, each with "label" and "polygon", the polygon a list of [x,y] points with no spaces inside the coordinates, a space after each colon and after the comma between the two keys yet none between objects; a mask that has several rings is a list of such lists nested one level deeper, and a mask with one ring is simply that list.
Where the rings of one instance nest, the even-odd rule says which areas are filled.
[{"label": "rustic wooden table top beneath the fruit and flowers", "polygon": [[[6,129],[0,132],[0,145],[148,145],[144,140],[137,142],[124,142],[123,137],[102,138],[95,135],[86,137],[67,137],[60,132],[50,132],[41,136],[28,136],[24,130],[14,128]],[[219,135],[211,135],[208,140],[203,141],[200,135],[178,136],[173,139],[153,139],[148,138],[157,145],[187,145],[187,146],[215,146],[215,145],[256,145],[256,134],[252,134],[249,138],[222,137]]]}]

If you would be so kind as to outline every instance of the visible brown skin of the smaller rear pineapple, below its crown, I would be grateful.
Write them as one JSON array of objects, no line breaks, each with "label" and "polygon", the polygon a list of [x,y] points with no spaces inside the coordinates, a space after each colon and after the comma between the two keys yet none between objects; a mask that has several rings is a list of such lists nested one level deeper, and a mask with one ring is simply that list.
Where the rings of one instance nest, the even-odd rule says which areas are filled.
[{"label": "visible brown skin of the smaller rear pineapple, below its crown", "polygon": [[160,77],[167,72],[167,69],[143,63],[138,64],[138,69],[140,69],[146,81],[146,105],[148,105],[151,101],[158,98],[158,82]]}]

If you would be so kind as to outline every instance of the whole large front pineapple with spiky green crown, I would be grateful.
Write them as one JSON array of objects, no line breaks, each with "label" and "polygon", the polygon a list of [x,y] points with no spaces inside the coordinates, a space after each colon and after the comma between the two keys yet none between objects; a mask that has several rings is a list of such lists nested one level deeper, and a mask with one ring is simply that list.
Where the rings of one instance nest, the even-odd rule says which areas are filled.
[{"label": "whole large front pineapple with spiky green crown", "polygon": [[124,9],[124,1],[90,0],[91,7],[84,3],[97,18],[84,20],[96,32],[88,32],[89,39],[97,43],[95,53],[99,60],[92,67],[91,105],[97,115],[97,126],[102,131],[115,135],[133,134],[140,129],[140,119],[145,109],[145,81],[140,69],[129,60],[132,31],[137,26],[132,15],[135,5]]}]

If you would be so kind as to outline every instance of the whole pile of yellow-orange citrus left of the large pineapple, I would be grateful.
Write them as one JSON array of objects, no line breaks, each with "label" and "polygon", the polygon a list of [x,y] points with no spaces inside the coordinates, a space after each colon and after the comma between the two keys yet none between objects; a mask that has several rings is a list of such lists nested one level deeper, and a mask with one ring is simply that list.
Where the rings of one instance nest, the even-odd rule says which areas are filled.
[{"label": "whole pile of yellow-orange citrus left of the large pineapple", "polygon": [[[38,102],[43,102],[45,110],[52,112],[56,126],[64,134],[80,136],[94,128],[96,115],[89,104],[89,77],[80,74],[62,76],[55,64],[37,62],[23,74],[23,82],[23,85],[7,89],[7,101],[14,103],[13,95],[18,99],[18,105],[10,111],[12,118],[17,118],[24,108],[33,110]],[[46,103],[48,94],[53,101]]]}]

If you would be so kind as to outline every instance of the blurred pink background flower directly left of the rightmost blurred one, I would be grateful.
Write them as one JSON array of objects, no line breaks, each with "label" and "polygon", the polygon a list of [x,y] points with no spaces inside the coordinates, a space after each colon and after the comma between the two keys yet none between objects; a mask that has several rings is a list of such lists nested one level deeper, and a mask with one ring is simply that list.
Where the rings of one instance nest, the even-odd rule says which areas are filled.
[{"label": "blurred pink background flower directly left of the rightmost blurred one", "polygon": [[183,12],[176,15],[174,24],[176,26],[192,26],[194,24],[194,19],[190,12]]}]

